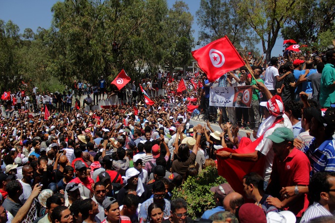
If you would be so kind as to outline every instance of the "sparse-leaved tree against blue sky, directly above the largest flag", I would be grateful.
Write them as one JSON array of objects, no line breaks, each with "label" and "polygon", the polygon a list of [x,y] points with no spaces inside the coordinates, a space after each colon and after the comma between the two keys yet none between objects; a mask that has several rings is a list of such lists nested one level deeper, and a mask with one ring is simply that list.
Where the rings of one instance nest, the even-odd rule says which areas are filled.
[{"label": "sparse-leaved tree against blue sky, directly above the largest flag", "polygon": [[249,24],[237,14],[232,3],[232,0],[201,0],[197,11],[201,27],[199,41],[209,43],[227,35],[236,48],[242,44],[254,46],[255,34],[250,32]]}]

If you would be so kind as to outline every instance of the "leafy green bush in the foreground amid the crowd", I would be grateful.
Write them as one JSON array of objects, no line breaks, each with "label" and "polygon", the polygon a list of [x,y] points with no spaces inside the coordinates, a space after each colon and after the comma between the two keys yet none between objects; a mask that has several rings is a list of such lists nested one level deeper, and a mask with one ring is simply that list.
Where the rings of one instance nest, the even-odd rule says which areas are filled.
[{"label": "leafy green bush in the foreground amid the crowd", "polygon": [[218,175],[215,167],[209,166],[197,177],[189,177],[180,188],[172,191],[173,197],[183,197],[188,205],[187,211],[192,219],[201,218],[204,211],[214,208],[214,194],[211,187],[227,183]]}]

